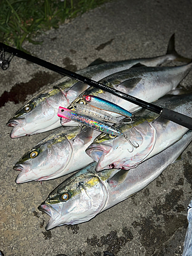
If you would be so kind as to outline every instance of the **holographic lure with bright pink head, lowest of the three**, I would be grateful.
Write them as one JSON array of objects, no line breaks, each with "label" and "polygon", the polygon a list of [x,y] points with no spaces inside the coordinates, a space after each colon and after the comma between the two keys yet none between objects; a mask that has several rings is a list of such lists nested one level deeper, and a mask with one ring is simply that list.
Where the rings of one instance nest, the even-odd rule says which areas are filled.
[{"label": "holographic lure with bright pink head, lowest of the three", "polygon": [[100,120],[91,118],[87,115],[79,114],[75,111],[68,110],[65,108],[62,108],[62,106],[59,106],[57,115],[62,118],[67,118],[69,120],[73,120],[79,123],[82,123],[84,125],[87,125],[91,127],[92,129],[95,129],[99,132],[108,133],[111,135],[123,135],[117,128],[106,124],[105,122],[102,122]]}]

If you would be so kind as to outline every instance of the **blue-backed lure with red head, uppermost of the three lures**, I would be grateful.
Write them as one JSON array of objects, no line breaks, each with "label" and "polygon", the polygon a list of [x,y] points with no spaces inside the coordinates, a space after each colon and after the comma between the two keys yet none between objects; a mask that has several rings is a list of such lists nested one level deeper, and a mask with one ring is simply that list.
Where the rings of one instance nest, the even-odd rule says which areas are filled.
[{"label": "blue-backed lure with red head, uppermost of the three lures", "polygon": [[108,100],[101,99],[93,95],[83,95],[82,98],[84,101],[86,101],[86,103],[88,103],[91,106],[94,106],[97,109],[115,112],[127,117],[132,116],[132,113]]}]

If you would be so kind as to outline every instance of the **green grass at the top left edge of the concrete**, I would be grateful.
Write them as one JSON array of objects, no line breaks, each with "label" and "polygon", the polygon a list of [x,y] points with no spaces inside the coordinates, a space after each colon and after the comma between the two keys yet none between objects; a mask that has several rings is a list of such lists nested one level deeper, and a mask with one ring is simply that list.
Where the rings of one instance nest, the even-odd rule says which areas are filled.
[{"label": "green grass at the top left edge of the concrete", "polygon": [[110,0],[1,0],[0,41],[25,51],[22,45],[49,29]]}]

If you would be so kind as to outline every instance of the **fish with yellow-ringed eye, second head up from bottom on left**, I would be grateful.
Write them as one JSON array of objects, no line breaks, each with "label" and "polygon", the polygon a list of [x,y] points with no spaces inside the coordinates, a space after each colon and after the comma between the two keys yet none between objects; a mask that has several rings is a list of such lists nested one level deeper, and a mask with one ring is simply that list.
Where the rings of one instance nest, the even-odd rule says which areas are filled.
[{"label": "fish with yellow-ringed eye, second head up from bottom on left", "polygon": [[93,159],[85,150],[100,133],[89,128],[60,127],[26,152],[14,165],[16,183],[55,179],[87,166]]}]

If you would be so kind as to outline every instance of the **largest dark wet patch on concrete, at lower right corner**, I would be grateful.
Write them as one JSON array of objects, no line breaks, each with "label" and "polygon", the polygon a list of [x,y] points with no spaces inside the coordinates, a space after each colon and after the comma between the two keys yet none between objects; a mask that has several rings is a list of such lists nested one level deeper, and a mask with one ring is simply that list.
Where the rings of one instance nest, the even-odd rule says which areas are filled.
[{"label": "largest dark wet patch on concrete, at lower right corner", "polygon": [[[183,190],[174,188],[165,195],[164,203],[161,203],[160,197],[157,198],[151,215],[143,217],[139,222],[132,223],[134,228],[139,227],[140,243],[145,248],[145,255],[164,255],[164,249],[160,253],[161,246],[164,246],[164,243],[173,236],[178,228],[187,224],[186,216],[178,215],[178,212],[185,210],[184,206],[179,204],[182,198]],[[157,248],[158,252],[156,252]]]}]

